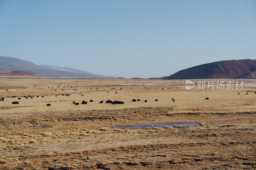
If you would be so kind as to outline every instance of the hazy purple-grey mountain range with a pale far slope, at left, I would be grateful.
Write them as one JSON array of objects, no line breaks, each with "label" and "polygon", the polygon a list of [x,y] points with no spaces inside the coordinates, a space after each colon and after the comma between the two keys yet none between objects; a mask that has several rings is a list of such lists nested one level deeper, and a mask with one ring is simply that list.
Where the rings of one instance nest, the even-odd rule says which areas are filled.
[{"label": "hazy purple-grey mountain range with a pale far slope, at left", "polygon": [[52,65],[36,65],[29,61],[13,57],[0,56],[0,72],[22,71],[30,72],[43,77],[96,77],[96,78],[116,78],[94,74],[84,70],[70,67],[57,67]]}]

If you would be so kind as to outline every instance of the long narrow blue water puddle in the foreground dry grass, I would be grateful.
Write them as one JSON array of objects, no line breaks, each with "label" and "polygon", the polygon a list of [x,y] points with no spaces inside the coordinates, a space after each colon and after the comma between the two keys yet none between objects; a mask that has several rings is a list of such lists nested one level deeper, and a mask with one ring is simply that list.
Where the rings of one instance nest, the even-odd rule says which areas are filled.
[{"label": "long narrow blue water puddle in the foreground dry grass", "polygon": [[154,127],[164,127],[164,126],[179,126],[178,128],[185,128],[188,126],[196,126],[199,125],[200,123],[197,122],[175,122],[175,123],[154,123],[154,124],[141,124],[141,125],[128,125],[128,126],[116,126],[119,127],[121,129],[146,129],[146,128],[150,128],[151,126]]}]

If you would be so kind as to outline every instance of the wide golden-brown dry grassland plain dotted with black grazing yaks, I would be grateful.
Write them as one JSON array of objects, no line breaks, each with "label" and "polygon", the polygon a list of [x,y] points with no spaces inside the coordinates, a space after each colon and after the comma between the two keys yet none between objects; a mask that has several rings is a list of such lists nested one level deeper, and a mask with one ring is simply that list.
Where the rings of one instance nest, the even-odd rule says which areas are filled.
[{"label": "wide golden-brown dry grassland plain dotted with black grazing yaks", "polygon": [[1,78],[0,169],[256,169],[254,82]]}]

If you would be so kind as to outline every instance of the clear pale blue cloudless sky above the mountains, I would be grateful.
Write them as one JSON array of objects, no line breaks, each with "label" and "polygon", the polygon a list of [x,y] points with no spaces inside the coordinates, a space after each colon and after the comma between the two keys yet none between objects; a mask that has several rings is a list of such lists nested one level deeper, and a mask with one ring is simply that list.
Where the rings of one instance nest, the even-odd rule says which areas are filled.
[{"label": "clear pale blue cloudless sky above the mountains", "polygon": [[125,78],[256,59],[252,0],[0,0],[0,55]]}]

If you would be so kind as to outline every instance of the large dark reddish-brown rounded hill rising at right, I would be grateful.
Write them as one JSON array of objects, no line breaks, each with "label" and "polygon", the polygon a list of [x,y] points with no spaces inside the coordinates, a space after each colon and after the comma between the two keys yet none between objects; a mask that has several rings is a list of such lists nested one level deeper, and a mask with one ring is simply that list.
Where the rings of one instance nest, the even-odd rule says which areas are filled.
[{"label": "large dark reddish-brown rounded hill rising at right", "polygon": [[256,71],[256,60],[226,60],[180,70],[164,79],[234,78]]}]

